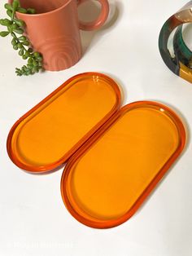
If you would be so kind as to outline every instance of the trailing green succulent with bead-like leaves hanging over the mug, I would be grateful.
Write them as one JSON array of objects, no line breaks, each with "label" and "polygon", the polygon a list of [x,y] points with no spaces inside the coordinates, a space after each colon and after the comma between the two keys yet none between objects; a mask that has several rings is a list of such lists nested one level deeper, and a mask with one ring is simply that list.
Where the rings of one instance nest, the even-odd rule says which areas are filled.
[{"label": "trailing green succulent with bead-like leaves hanging over the mug", "polygon": [[16,11],[34,14],[35,10],[33,8],[24,9],[20,7],[19,0],[14,0],[12,4],[6,3],[5,8],[7,9],[9,19],[1,19],[0,24],[7,27],[7,31],[0,32],[0,36],[4,38],[11,35],[13,49],[19,51],[19,55],[22,56],[24,60],[28,60],[27,65],[24,65],[22,68],[15,68],[15,73],[18,76],[28,76],[38,73],[42,69],[42,55],[39,52],[33,51],[28,38],[23,35],[25,27],[24,21],[17,19],[15,16]]}]

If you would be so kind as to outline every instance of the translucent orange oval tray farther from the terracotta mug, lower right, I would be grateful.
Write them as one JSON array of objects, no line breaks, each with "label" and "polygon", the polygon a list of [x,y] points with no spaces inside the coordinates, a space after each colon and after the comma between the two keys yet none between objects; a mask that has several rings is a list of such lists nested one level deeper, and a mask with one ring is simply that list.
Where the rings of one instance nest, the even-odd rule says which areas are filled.
[{"label": "translucent orange oval tray farther from the terracotta mug, lower right", "polygon": [[69,212],[90,227],[115,227],[130,218],[185,145],[175,113],[154,102],[121,108],[63,171]]}]

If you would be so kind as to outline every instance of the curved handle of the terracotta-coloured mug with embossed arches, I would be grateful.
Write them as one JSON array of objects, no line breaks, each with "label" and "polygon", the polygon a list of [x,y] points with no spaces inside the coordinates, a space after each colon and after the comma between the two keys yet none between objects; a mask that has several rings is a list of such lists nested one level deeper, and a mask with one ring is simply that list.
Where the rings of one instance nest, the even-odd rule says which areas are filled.
[{"label": "curved handle of the terracotta-coloured mug with embossed arches", "polygon": [[[77,4],[78,6],[81,5],[81,3],[83,2],[87,2],[89,0],[78,0]],[[98,16],[97,20],[91,21],[91,22],[83,22],[80,21],[80,29],[82,30],[94,30],[94,29],[99,29],[107,20],[107,16],[109,14],[109,3],[107,0],[97,0],[98,2],[100,2],[101,6],[102,6],[102,10],[100,15]]]}]

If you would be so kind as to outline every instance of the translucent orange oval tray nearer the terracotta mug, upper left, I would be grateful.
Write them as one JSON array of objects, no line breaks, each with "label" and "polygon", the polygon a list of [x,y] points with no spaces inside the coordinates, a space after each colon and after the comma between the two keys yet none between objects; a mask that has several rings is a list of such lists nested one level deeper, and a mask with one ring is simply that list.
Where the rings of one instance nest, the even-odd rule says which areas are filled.
[{"label": "translucent orange oval tray nearer the terracotta mug, upper left", "polygon": [[120,90],[110,77],[100,73],[72,77],[15,123],[7,139],[8,154],[24,170],[53,170],[119,106]]}]

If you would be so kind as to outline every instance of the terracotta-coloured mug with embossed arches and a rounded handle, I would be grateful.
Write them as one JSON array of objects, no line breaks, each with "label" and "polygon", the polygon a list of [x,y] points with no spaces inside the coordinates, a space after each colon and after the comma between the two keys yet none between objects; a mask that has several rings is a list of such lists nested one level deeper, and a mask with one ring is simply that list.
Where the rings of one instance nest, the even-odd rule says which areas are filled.
[{"label": "terracotta-coloured mug with embossed arches and a rounded handle", "polygon": [[102,6],[98,19],[79,21],[77,7],[86,1],[89,0],[20,0],[21,7],[36,10],[35,15],[16,15],[24,20],[26,34],[33,49],[43,55],[46,70],[59,71],[76,64],[82,55],[80,29],[98,29],[107,20],[109,4],[107,0],[97,0]]}]

